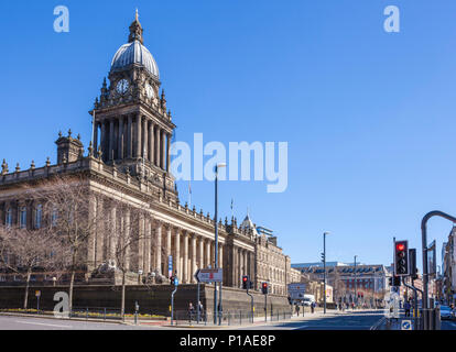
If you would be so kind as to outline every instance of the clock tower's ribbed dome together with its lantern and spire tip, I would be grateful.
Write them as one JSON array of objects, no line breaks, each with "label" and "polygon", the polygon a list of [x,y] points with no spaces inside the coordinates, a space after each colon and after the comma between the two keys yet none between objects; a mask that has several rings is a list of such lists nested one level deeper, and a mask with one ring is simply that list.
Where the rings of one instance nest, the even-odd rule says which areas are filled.
[{"label": "clock tower's ribbed dome together with its lantern and spire tip", "polygon": [[116,53],[111,63],[111,70],[122,70],[130,65],[137,64],[143,66],[152,76],[160,79],[159,66],[152,54],[143,45],[142,25],[139,22],[139,14],[130,25],[130,35],[128,44],[122,45]]}]

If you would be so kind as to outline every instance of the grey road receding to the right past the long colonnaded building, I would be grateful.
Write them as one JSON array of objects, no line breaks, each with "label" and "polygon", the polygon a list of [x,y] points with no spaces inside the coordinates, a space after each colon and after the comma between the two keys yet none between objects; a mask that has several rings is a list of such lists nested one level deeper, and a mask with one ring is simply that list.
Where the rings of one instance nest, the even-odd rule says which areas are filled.
[{"label": "grey road receding to the right past the long colonnaded building", "polygon": [[274,326],[256,326],[239,330],[369,330],[383,317],[383,310],[355,311],[337,316],[321,316]]}]

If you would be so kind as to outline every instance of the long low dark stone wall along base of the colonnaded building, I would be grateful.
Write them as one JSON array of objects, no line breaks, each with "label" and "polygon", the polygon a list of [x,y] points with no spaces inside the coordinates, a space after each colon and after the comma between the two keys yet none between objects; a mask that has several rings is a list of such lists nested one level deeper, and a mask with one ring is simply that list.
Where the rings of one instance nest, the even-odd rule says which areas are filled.
[{"label": "long low dark stone wall along base of the colonnaded building", "polygon": [[[134,302],[140,305],[140,312],[170,316],[171,294],[174,286],[127,286],[126,287],[126,312],[134,311]],[[56,302],[53,300],[57,292],[68,292],[68,286],[56,287],[31,287],[29,290],[29,308],[36,308],[35,292],[41,290],[40,309],[53,310]],[[0,309],[22,308],[25,289],[23,287],[0,287]],[[263,314],[264,296],[260,293],[251,293],[254,298],[256,314]],[[197,285],[180,285],[174,296],[175,310],[186,311],[192,301],[194,307],[197,304]],[[214,310],[214,286],[200,285],[200,301],[209,314]],[[120,309],[121,287],[120,286],[75,286],[74,308],[116,308]],[[246,290],[231,287],[224,287],[222,309],[227,311],[250,311],[251,298]],[[269,295],[268,311],[290,309],[286,297]]]}]

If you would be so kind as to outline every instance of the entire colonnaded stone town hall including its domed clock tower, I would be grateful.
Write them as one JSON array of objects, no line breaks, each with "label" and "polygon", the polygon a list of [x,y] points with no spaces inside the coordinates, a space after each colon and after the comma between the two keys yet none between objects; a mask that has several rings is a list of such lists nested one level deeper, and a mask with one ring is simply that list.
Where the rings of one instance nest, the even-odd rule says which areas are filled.
[{"label": "entire colonnaded stone town hall including its domed clock tower", "polygon": [[[18,201],[21,185],[53,175],[80,174],[87,178],[93,195],[87,200],[91,211],[111,207],[107,212],[111,220],[128,222],[129,213],[118,211],[109,201],[119,198],[119,194],[123,195],[123,202],[146,210],[138,220],[138,228],[154,241],[138,246],[140,253],[130,263],[131,273],[169,277],[167,261],[172,256],[181,283],[195,284],[197,268],[215,264],[215,223],[209,213],[180,204],[170,173],[170,147],[176,127],[161,90],[159,67],[144,46],[138,16],[130,25],[128,43],[113,56],[109,85],[105,79],[90,114],[95,123],[88,152],[80,138],[69,132],[61,133],[56,141],[56,164],[48,160],[43,167],[32,163],[29,169],[21,170],[18,165],[10,170],[3,161],[1,224],[33,228],[41,221],[41,205]],[[290,257],[278,246],[276,239],[259,234],[249,217],[239,226],[236,219],[221,221],[218,229],[218,265],[224,270],[224,287],[240,288],[242,275],[250,275],[257,290],[262,282],[269,282],[271,294],[286,296],[286,285],[301,280],[301,273],[291,268]],[[122,227],[115,227],[113,231],[122,231]],[[87,243],[87,282],[91,272],[115,260],[108,245],[109,240],[95,229]]]}]

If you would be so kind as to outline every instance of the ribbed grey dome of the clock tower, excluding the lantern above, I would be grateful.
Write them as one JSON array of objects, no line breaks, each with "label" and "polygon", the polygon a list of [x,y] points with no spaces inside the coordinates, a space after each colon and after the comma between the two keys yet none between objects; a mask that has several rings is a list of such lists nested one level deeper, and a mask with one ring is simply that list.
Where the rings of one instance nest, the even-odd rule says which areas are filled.
[{"label": "ribbed grey dome of the clock tower, excluding the lantern above", "polygon": [[135,40],[122,45],[116,53],[111,63],[111,70],[121,70],[130,65],[143,66],[152,76],[160,79],[159,66],[149,50]]}]

